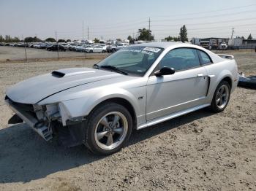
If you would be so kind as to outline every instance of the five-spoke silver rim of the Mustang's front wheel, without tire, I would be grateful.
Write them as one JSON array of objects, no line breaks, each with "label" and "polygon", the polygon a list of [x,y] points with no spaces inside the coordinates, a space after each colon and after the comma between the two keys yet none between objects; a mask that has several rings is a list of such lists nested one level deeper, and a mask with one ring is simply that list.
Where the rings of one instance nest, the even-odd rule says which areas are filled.
[{"label": "five-spoke silver rim of the Mustang's front wheel, without tire", "polygon": [[97,124],[95,141],[102,149],[114,149],[120,145],[128,130],[127,118],[120,112],[105,114]]}]

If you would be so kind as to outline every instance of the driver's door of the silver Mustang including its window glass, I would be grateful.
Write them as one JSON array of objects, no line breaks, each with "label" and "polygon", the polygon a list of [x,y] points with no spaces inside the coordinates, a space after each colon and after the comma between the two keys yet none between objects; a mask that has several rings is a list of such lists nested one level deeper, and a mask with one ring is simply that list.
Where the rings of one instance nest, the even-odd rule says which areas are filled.
[{"label": "driver's door of the silver Mustang including its window glass", "polygon": [[206,100],[208,77],[197,50],[177,48],[167,52],[157,66],[175,69],[174,74],[148,78],[146,120],[199,106]]}]

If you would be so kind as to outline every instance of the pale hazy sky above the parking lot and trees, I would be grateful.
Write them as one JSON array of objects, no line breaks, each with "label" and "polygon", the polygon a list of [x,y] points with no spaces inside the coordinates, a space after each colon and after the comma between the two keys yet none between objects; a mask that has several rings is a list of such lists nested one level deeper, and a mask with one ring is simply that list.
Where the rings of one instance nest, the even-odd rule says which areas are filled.
[{"label": "pale hazy sky above the parking lot and trees", "polygon": [[[0,0],[0,35],[40,39],[127,39],[149,28],[155,39],[256,38],[255,0]],[[89,30],[88,30],[89,28]],[[89,31],[89,33],[88,33]]]}]

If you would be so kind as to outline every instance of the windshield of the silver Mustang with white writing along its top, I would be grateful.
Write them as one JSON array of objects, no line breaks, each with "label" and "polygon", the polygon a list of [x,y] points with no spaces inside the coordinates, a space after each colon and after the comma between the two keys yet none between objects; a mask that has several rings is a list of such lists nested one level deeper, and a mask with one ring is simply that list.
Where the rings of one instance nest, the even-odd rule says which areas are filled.
[{"label": "windshield of the silver Mustang with white writing along its top", "polygon": [[114,66],[127,74],[143,76],[152,63],[157,60],[162,50],[159,47],[124,47],[100,61],[97,65],[99,68],[102,66]]}]

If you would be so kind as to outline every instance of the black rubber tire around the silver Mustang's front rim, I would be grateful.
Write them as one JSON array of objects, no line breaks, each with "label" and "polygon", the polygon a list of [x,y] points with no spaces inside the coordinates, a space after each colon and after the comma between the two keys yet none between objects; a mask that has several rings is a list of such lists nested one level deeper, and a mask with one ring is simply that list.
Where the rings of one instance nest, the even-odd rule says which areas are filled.
[{"label": "black rubber tire around the silver Mustang's front rim", "polygon": [[[95,137],[95,132],[98,128],[98,124],[100,124],[100,120],[102,120],[102,117],[104,117],[106,114],[109,114],[110,112],[119,112],[124,115],[124,117],[127,119],[127,133],[126,136],[123,137],[123,141],[118,144],[117,147],[113,149],[102,149],[102,147],[99,147],[99,144],[97,144],[97,140]],[[129,137],[132,133],[132,117],[131,114],[128,112],[128,110],[119,104],[116,103],[106,103],[98,106],[96,109],[94,109],[91,114],[89,114],[89,120],[86,123],[86,147],[88,147],[91,152],[94,152],[94,154],[97,155],[110,155],[115,152],[118,152],[122,147],[124,147],[127,142],[129,141]],[[118,139],[117,139],[118,141]]]}]

